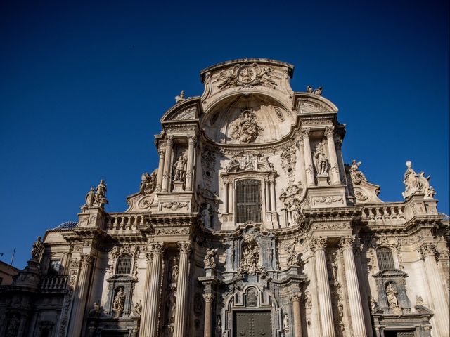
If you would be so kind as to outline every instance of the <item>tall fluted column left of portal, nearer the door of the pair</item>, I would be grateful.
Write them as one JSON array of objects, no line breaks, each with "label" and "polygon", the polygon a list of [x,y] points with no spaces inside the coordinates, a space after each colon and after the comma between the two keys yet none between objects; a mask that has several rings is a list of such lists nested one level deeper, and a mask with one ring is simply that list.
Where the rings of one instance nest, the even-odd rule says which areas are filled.
[{"label": "tall fluted column left of portal, nearer the door of the pair", "polygon": [[180,264],[178,282],[176,283],[174,337],[185,337],[186,317],[189,317],[188,312],[186,312],[186,292],[188,290],[188,263],[191,244],[179,242],[178,250],[180,252]]}]

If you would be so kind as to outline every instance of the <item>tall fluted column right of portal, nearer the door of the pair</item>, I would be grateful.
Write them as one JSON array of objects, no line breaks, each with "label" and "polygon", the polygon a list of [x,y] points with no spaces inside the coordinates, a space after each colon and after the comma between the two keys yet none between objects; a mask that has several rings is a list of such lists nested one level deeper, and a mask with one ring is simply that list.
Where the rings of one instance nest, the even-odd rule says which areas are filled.
[{"label": "tall fluted column right of portal, nearer the door of the pair", "polygon": [[323,237],[313,238],[311,251],[316,256],[317,293],[319,296],[319,309],[321,315],[322,337],[334,337],[333,308],[331,307],[330,284],[326,271],[325,257],[326,239]]}]

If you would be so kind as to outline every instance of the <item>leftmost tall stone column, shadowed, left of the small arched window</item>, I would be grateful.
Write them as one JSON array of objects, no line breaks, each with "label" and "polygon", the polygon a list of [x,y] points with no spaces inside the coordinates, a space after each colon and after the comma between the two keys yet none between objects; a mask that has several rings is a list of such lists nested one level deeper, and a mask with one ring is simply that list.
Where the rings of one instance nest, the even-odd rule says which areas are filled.
[{"label": "leftmost tall stone column, shadowed, left of the small arched window", "polygon": [[92,256],[82,254],[80,258],[81,268],[77,288],[75,289],[70,315],[68,336],[81,336],[84,311],[86,310],[86,296],[89,290],[89,275],[91,274]]}]

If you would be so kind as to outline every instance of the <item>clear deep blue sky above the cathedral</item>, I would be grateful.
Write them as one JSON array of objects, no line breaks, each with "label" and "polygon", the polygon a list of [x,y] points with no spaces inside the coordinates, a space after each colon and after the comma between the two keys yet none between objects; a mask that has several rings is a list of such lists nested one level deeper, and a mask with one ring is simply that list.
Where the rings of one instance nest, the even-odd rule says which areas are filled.
[{"label": "clear deep blue sky above the cathedral", "polygon": [[153,135],[199,72],[235,58],[295,65],[347,124],[345,161],[401,201],[405,161],[449,213],[449,1],[16,1],[0,4],[0,259],[77,220],[104,178],[124,211],[158,165]]}]

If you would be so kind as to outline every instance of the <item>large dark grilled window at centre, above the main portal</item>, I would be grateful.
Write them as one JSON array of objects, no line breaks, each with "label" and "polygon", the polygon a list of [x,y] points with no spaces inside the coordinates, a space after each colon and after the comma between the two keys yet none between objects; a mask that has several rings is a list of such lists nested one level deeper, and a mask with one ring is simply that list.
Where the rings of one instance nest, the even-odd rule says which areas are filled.
[{"label": "large dark grilled window at centre, above the main portal", "polygon": [[261,222],[261,182],[255,179],[236,183],[236,222]]}]

